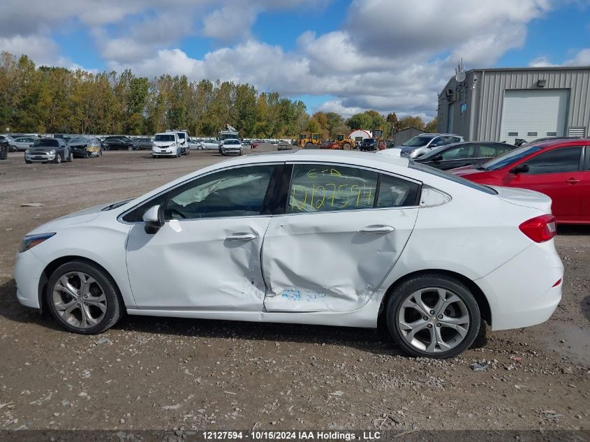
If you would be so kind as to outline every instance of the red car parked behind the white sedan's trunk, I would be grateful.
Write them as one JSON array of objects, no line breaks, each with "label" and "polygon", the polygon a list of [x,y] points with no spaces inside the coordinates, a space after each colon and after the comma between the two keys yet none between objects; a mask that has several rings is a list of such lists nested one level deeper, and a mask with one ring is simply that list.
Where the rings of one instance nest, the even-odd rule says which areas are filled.
[{"label": "red car parked behind the white sedan's trunk", "polygon": [[480,165],[449,172],[491,186],[550,196],[558,223],[590,224],[590,140],[533,142]]}]

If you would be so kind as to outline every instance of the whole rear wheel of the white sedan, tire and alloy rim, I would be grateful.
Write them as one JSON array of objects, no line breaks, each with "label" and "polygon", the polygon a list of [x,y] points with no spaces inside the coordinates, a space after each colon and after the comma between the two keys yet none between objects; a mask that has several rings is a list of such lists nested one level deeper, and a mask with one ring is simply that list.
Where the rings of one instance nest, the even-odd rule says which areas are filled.
[{"label": "whole rear wheel of the white sedan, tire and alloy rim", "polygon": [[469,348],[480,330],[480,309],[463,283],[442,274],[408,279],[394,289],[387,323],[406,353],[453,358]]}]

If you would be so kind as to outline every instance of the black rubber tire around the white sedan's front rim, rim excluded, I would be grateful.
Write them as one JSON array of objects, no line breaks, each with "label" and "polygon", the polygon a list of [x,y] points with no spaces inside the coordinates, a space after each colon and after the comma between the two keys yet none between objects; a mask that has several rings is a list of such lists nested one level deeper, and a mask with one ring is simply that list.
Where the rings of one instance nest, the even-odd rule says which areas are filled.
[{"label": "black rubber tire around the white sedan's front rim, rim excluded", "polygon": [[[54,303],[53,289],[57,281],[59,281],[59,279],[65,274],[68,274],[68,272],[83,272],[84,274],[87,274],[90,277],[94,278],[96,282],[100,285],[100,288],[102,289],[105,295],[105,314],[101,321],[99,321],[93,327],[76,327],[75,325],[68,323],[64,318],[62,318],[57,311],[57,308]],[[119,318],[123,316],[125,311],[124,302],[121,299],[121,295],[119,295],[119,290],[117,290],[117,286],[115,285],[115,281],[112,280],[112,277],[110,277],[108,273],[106,273],[97,265],[93,265],[91,263],[78,260],[74,260],[69,263],[60,265],[52,273],[49,281],[47,282],[47,290],[45,290],[45,301],[47,302],[48,309],[50,310],[52,316],[57,320],[57,322],[62,327],[64,327],[66,330],[70,332],[80,334],[96,334],[108,330],[110,327],[115,325],[117,321],[119,321]]]}]

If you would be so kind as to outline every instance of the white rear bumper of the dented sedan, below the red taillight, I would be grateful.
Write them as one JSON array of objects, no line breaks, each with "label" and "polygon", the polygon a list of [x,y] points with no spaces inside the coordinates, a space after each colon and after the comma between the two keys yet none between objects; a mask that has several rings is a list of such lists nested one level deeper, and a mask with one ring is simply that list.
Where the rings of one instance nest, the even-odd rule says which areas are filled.
[{"label": "white rear bumper of the dented sedan, below the red taillight", "polygon": [[529,327],[547,321],[557,308],[563,264],[553,241],[531,244],[474,282],[487,297],[492,330]]}]

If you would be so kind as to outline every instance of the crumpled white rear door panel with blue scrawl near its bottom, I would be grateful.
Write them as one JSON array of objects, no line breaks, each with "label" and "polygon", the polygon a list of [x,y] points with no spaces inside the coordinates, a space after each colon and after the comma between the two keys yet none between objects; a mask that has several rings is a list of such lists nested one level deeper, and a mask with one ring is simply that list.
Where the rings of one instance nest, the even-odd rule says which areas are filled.
[{"label": "crumpled white rear door panel with blue scrawl near its bottom", "polygon": [[[367,303],[408,240],[418,209],[275,216],[263,244],[267,311],[351,311]],[[390,233],[360,233],[391,226]]]}]

